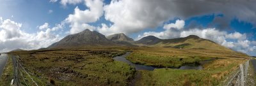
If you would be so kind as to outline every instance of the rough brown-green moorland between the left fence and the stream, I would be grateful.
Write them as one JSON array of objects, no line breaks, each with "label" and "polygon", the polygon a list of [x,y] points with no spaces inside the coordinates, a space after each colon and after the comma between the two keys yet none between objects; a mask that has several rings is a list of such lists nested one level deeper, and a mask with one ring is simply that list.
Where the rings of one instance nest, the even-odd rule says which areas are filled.
[{"label": "rough brown-green moorland between the left fence and the stream", "polygon": [[[112,59],[124,53],[95,48],[13,52],[38,85],[128,85],[135,69]],[[26,78],[22,83],[35,85],[24,71],[20,73]]]}]

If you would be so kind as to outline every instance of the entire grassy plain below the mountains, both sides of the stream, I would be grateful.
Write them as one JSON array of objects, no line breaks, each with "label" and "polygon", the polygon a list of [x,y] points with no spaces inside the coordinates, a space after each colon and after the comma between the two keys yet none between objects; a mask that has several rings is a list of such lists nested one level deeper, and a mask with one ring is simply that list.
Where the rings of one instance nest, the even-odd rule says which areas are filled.
[{"label": "entire grassy plain below the mountains, both sides of the stream", "polygon": [[[135,69],[112,57],[132,52],[129,61],[161,67],[215,59],[202,70]],[[158,47],[86,47],[12,52],[40,85],[221,85],[247,55],[220,50]],[[52,83],[52,81],[54,81]]]}]

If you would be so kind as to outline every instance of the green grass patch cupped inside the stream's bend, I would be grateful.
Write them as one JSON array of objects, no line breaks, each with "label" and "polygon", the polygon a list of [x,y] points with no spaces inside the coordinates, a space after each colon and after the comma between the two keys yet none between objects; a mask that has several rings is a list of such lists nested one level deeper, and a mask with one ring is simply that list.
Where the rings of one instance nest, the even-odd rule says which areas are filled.
[{"label": "green grass patch cupped inside the stream's bend", "polygon": [[129,61],[134,62],[136,64],[145,64],[147,66],[179,68],[180,66],[183,66],[185,64],[205,61],[211,58],[199,57],[199,56],[172,57],[172,56],[140,54],[140,53],[133,52],[131,55],[127,57],[127,59],[129,59]]}]

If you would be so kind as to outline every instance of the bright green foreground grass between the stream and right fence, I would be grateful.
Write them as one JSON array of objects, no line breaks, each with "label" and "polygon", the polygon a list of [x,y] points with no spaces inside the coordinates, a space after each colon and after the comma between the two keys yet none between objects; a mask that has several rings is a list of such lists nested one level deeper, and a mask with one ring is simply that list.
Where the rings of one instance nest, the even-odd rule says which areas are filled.
[{"label": "bright green foreground grass between the stream and right fence", "polygon": [[[211,64],[215,65],[217,62]],[[237,64],[231,63],[220,68],[206,67],[203,70],[154,69],[139,71],[141,78],[136,85],[221,85]]]}]

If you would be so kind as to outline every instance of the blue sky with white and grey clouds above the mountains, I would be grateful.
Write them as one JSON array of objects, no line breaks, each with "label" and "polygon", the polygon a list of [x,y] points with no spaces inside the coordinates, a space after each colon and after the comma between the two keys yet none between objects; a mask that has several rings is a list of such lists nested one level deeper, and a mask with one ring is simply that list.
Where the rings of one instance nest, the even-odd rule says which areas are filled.
[{"label": "blue sky with white and grey clouds above the mountains", "polygon": [[255,0],[0,0],[0,52],[45,48],[84,29],[138,40],[196,35],[256,55]]}]

